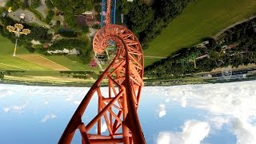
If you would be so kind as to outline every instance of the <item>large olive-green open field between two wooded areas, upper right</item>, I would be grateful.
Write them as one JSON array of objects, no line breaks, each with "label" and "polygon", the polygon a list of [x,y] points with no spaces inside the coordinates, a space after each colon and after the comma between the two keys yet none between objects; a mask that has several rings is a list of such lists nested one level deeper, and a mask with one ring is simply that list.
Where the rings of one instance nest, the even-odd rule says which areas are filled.
[{"label": "large olive-green open field between two wooded areas, upper right", "polygon": [[[174,51],[194,46],[235,22],[256,14],[255,0],[198,0],[192,2],[158,35],[145,55],[167,57]],[[158,61],[145,58],[145,66]]]}]

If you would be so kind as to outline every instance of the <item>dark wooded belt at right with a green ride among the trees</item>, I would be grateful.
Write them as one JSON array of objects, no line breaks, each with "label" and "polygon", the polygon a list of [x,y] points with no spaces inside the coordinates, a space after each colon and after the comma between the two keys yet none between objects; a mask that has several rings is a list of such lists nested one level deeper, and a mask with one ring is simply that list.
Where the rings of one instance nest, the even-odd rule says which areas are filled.
[{"label": "dark wooded belt at right with a green ride among the trees", "polygon": [[[146,67],[146,77],[170,77],[193,74],[210,71],[218,67],[238,67],[256,62],[256,26],[253,26],[253,22],[256,22],[256,18],[226,30],[217,41],[213,38],[205,39],[210,43],[204,48],[182,49],[175,53],[178,56],[174,58],[169,57],[154,62],[153,65]],[[226,46],[232,48],[229,47],[224,53],[223,50]],[[200,55],[208,54],[209,58],[205,57],[196,60],[196,68],[194,68],[193,59],[182,62],[182,60],[190,58],[191,54],[198,52]]]}]

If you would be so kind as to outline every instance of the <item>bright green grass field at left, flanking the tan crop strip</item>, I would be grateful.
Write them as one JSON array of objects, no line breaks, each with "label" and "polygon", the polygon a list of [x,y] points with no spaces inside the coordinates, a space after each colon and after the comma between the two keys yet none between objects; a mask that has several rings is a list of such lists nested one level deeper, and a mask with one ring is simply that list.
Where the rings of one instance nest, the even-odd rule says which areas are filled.
[{"label": "bright green grass field at left, flanking the tan crop strip", "polygon": [[[21,58],[13,57],[14,44],[7,38],[0,35],[0,70],[51,70],[44,66],[22,60]],[[25,48],[18,46],[16,54],[30,54]],[[42,55],[43,56],[43,55]],[[99,68],[90,68],[88,64],[83,65],[80,62],[72,61],[64,56],[43,56],[59,65],[65,66],[70,70],[94,70]]]}]

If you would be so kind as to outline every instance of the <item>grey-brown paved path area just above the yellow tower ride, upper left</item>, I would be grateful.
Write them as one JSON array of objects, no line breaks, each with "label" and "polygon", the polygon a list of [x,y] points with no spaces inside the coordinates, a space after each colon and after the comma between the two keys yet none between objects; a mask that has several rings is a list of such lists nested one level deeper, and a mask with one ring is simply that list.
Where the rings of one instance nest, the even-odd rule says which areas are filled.
[{"label": "grey-brown paved path area just above the yellow tower ride, upper left", "polygon": [[8,13],[8,16],[10,18],[13,18],[16,21],[19,21],[20,20],[19,17],[21,14],[26,14],[26,16],[25,16],[26,23],[37,23],[40,26],[45,26],[47,28],[50,28],[50,26],[48,26],[45,22],[42,22],[40,19],[38,19],[30,10],[18,9],[14,12]]}]

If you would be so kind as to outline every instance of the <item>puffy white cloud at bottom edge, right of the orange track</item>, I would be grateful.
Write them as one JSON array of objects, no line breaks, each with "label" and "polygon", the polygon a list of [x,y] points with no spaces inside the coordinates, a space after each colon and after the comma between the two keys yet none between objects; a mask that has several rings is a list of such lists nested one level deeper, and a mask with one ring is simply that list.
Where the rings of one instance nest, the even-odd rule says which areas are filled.
[{"label": "puffy white cloud at bottom edge, right of the orange track", "polygon": [[163,131],[158,134],[158,144],[200,144],[210,132],[207,122],[187,121],[182,126],[182,132]]}]

